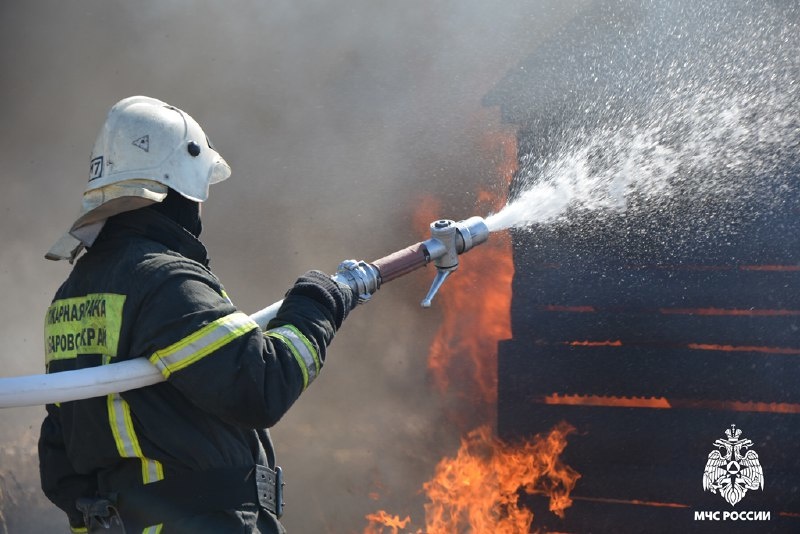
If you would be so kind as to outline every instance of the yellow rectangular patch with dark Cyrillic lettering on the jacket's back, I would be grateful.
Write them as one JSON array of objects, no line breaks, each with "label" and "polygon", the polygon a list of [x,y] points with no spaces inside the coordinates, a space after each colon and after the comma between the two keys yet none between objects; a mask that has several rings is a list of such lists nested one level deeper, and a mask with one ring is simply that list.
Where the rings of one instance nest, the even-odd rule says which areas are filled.
[{"label": "yellow rectangular patch with dark Cyrillic lettering on the jacket's back", "polygon": [[79,354],[117,355],[125,295],[90,293],[54,301],[44,318],[45,363]]}]

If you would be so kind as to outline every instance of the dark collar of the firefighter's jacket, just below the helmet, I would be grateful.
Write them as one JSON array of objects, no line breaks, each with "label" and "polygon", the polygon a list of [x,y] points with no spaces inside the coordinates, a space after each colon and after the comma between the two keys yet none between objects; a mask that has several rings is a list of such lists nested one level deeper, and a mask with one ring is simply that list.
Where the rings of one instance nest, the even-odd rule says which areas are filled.
[{"label": "dark collar of the firefighter's jacket, just below the helmet", "polygon": [[93,247],[103,248],[116,239],[139,235],[157,241],[181,256],[208,267],[205,245],[183,226],[157,211],[141,208],[111,217]]}]

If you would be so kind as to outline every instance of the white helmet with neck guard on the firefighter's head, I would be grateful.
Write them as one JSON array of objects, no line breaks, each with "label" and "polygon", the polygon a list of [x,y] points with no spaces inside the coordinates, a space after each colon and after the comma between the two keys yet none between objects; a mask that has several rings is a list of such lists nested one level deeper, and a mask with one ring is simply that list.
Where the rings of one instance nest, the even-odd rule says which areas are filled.
[{"label": "white helmet with neck guard on the firefighter's head", "polygon": [[97,136],[83,205],[69,232],[45,255],[73,260],[112,215],[161,202],[169,188],[203,202],[231,169],[189,114],[146,96],[117,102]]}]

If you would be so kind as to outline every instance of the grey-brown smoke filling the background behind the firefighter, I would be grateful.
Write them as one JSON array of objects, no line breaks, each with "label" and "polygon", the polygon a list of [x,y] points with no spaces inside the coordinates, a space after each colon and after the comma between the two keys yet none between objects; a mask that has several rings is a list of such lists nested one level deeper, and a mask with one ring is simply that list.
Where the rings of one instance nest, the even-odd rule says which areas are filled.
[{"label": "grey-brown smoke filling the background behind the firefighter", "polygon": [[[481,98],[584,3],[2,3],[3,374],[42,371],[42,314],[69,270],[42,255],[77,213],[117,100],[181,107],[231,164],[204,206],[203,238],[252,312],[307,269],[422,238],[411,225],[421,195],[437,196],[442,216],[474,215],[495,172],[475,147],[498,125]],[[395,282],[357,310],[323,378],[274,429],[291,531],[353,532],[378,507],[403,510],[457,445],[428,387],[437,315],[418,308],[428,283]],[[30,493],[42,416],[0,413],[0,510],[15,532],[63,527]]]}]

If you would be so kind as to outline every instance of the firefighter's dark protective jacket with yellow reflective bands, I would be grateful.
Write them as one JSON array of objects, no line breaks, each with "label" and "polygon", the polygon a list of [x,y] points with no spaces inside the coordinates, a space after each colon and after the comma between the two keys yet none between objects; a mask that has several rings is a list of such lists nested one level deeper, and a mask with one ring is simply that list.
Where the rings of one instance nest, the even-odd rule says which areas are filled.
[{"label": "firefighter's dark protective jacket with yellow reflective bands", "polygon": [[[85,532],[79,498],[124,498],[187,473],[275,468],[266,428],[319,373],[351,298],[309,272],[262,332],[227,298],[205,247],[181,225],[148,208],[112,217],[47,310],[47,371],[144,357],[166,381],[48,405],[39,440],[44,493]],[[119,512],[126,521],[143,511]],[[137,531],[283,532],[257,502],[149,520]]]}]

